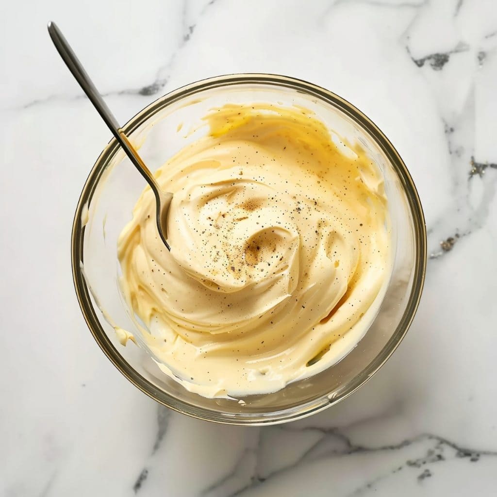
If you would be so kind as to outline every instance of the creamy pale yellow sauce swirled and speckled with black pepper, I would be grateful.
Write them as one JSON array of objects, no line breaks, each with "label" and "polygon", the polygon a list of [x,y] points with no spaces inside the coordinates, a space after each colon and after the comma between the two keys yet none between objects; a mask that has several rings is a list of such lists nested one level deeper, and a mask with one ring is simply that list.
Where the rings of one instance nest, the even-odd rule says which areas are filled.
[{"label": "creamy pale yellow sauce swirled and speckled with black pepper", "polygon": [[125,299],[160,368],[205,397],[274,392],[367,331],[391,272],[383,177],[302,108],[226,105],[157,172],[118,242]]}]

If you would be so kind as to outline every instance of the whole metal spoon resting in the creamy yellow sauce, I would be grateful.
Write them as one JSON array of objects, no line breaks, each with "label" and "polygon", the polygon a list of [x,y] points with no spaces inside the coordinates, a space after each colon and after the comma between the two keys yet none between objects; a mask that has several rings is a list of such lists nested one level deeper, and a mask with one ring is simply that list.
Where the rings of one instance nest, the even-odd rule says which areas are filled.
[{"label": "whole metal spoon resting in the creamy yellow sauce", "polygon": [[145,166],[137,151],[133,148],[130,141],[128,140],[128,137],[120,128],[119,124],[116,121],[116,118],[107,107],[107,104],[103,101],[102,96],[95,88],[95,85],[90,80],[89,76],[81,65],[81,62],[78,60],[78,57],[76,57],[76,54],[69,46],[69,43],[67,42],[66,38],[64,38],[64,35],[61,33],[55,22],[48,23],[48,32],[50,34],[50,38],[52,38],[52,41],[54,42],[55,48],[62,57],[62,60],[66,63],[69,71],[71,71],[72,75],[76,78],[76,81],[80,83],[80,86],[83,88],[86,96],[90,99],[93,107],[95,107],[97,112],[100,114],[100,117],[104,120],[110,131],[112,131],[112,134],[115,136],[124,152],[126,152],[130,161],[140,171],[141,175],[147,180],[150,188],[152,188],[152,191],[154,192],[156,198],[157,228],[159,230],[159,235],[161,236],[164,245],[166,245],[167,249],[170,250],[171,248],[166,241],[166,224],[167,213],[169,211],[169,206],[172,200],[172,193],[162,191],[160,186],[157,184],[157,181],[154,178],[153,174],[150,172],[149,168]]}]

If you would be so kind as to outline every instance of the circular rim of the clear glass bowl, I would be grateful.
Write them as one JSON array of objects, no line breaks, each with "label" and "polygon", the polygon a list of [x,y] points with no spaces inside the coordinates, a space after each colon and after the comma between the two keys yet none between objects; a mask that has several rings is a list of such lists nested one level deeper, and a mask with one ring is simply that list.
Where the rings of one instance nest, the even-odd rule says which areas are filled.
[{"label": "circular rim of the clear glass bowl", "polygon": [[376,126],[376,124],[373,123],[373,121],[371,121],[371,119],[369,119],[364,113],[344,98],[331,92],[330,90],[304,80],[288,76],[262,73],[229,74],[200,80],[181,86],[159,97],[133,116],[122,127],[122,129],[126,134],[132,133],[145,121],[153,117],[157,112],[187,96],[216,87],[230,87],[232,85],[239,84],[263,84],[266,86],[273,85],[277,87],[291,88],[317,97],[325,103],[338,108],[371,135],[377,145],[390,160],[392,166],[397,172],[399,180],[402,183],[404,191],[406,192],[408,204],[413,216],[414,244],[416,249],[414,278],[409,301],[402,319],[389,341],[385,344],[378,355],[358,375],[346,384],[348,388],[344,389],[342,387],[340,393],[332,398],[330,397],[330,394],[328,394],[305,404],[300,404],[299,406],[292,408],[286,408],[281,411],[263,414],[250,413],[245,415],[241,413],[239,416],[238,414],[223,414],[219,411],[199,408],[178,400],[156,387],[128,364],[128,362],[110,341],[110,338],[103,330],[96,316],[82,268],[85,230],[81,222],[83,209],[85,206],[90,204],[99,179],[106,170],[109,160],[118,152],[120,148],[115,138],[112,138],[105,149],[101,152],[84,183],[73,221],[71,237],[71,263],[74,287],[86,325],[108,359],[133,385],[135,385],[135,387],[140,389],[150,398],[172,409],[173,411],[187,414],[197,419],[223,424],[260,426],[301,419],[303,417],[310,416],[311,414],[323,411],[355,392],[359,387],[366,383],[383,366],[383,364],[385,364],[409,330],[419,304],[426,270],[426,228],[423,210],[411,174],[409,173],[399,153],[383,132],[378,128],[378,126]]}]

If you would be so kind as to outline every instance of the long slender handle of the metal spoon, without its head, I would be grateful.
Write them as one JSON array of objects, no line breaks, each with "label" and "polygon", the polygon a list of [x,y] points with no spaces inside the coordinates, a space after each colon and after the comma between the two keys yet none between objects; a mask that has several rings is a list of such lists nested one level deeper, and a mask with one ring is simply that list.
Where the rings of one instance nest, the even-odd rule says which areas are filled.
[{"label": "long slender handle of the metal spoon, without its head", "polygon": [[128,140],[128,137],[120,128],[116,118],[107,107],[107,104],[104,102],[102,96],[95,88],[95,85],[84,70],[81,62],[78,60],[78,57],[76,57],[76,54],[69,46],[69,43],[67,42],[66,38],[64,38],[64,35],[61,33],[55,22],[48,23],[48,32],[50,34],[50,38],[52,38],[52,41],[54,42],[55,48],[62,57],[62,60],[66,63],[69,71],[71,71],[72,75],[76,78],[76,81],[80,83],[80,86],[82,87],[84,93],[86,93],[86,96],[90,99],[90,102],[100,114],[105,124],[108,126],[110,131],[112,131],[112,134],[115,136],[119,145],[121,145],[130,161],[147,180],[152,190],[154,190],[156,197],[158,198],[160,188],[154,176],[150,172],[149,168],[145,166],[144,162]]}]

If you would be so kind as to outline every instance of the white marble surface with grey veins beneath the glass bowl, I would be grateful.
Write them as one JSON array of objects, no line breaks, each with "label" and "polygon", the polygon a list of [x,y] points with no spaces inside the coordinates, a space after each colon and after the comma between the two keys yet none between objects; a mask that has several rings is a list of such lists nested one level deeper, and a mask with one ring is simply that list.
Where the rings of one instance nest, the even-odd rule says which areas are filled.
[{"label": "white marble surface with grey veins beneath the glass bowl", "polygon": [[[122,122],[184,83],[270,72],[330,88],[389,136],[432,258],[410,332],[367,385],[303,421],[229,427],[158,406],[105,358],[69,248],[109,132],[51,18]],[[30,0],[2,20],[0,495],[497,495],[495,1]]]}]

